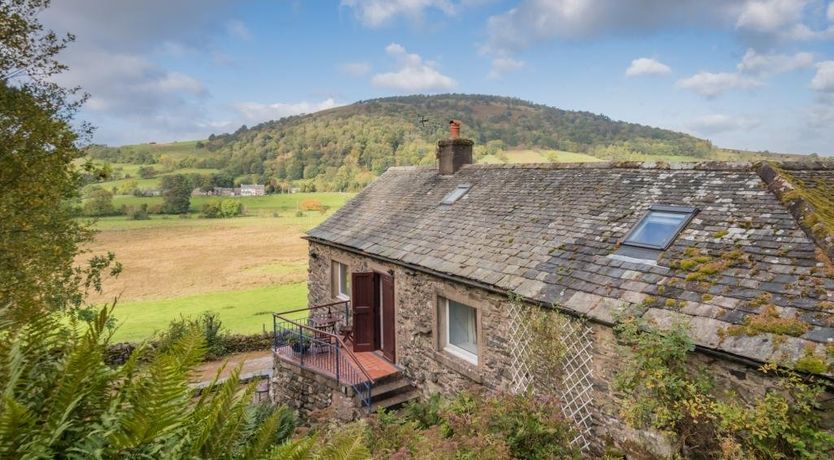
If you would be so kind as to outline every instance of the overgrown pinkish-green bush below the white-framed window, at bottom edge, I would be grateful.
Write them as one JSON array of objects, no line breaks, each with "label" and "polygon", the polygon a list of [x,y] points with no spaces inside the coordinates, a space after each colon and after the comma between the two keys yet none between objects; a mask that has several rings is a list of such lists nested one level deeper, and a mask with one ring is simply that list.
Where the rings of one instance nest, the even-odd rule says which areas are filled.
[{"label": "overgrown pinkish-green bush below the white-framed window, at bottom edge", "polygon": [[556,400],[532,395],[435,396],[400,414],[378,412],[366,442],[376,458],[579,458],[561,413]]}]

